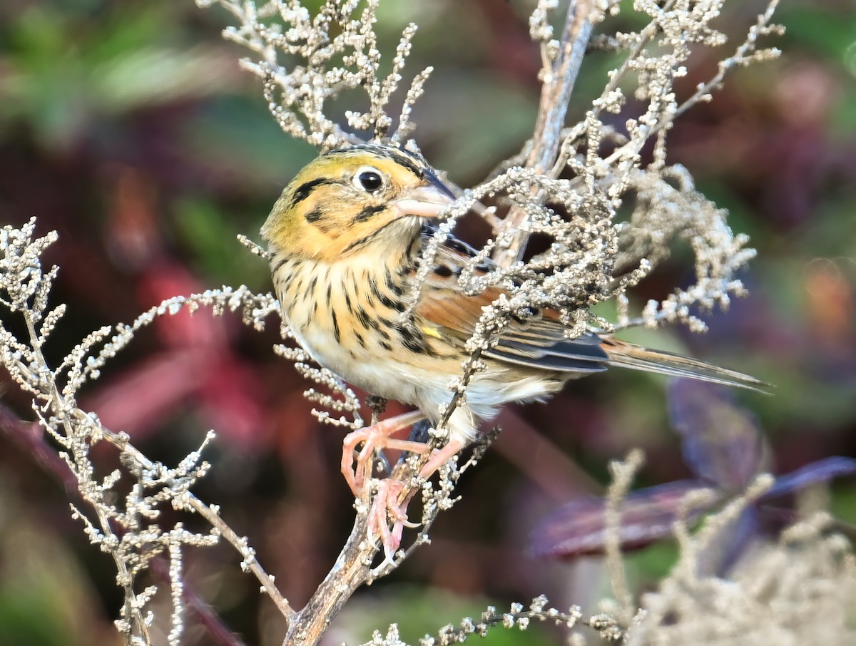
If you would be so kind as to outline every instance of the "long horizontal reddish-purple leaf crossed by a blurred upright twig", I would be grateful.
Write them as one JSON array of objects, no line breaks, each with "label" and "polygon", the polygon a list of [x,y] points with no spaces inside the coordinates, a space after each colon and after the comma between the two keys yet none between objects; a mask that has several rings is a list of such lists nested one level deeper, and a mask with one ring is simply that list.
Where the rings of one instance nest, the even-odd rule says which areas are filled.
[{"label": "long horizontal reddish-purple leaf crossed by a blurred upright twig", "polygon": [[[698,489],[707,489],[707,486],[697,480],[679,480],[628,495],[621,505],[621,548],[642,548],[671,535],[681,500]],[[711,501],[710,507],[715,502]],[[532,531],[530,552],[554,559],[603,554],[605,511],[603,498],[580,498],[562,505]],[[697,509],[691,518],[702,512],[704,509]]]}]

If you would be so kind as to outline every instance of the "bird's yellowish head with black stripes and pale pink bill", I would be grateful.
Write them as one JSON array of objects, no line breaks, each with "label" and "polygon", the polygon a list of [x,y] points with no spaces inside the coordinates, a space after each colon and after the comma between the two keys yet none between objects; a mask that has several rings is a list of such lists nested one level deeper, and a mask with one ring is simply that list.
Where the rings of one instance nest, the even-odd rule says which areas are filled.
[{"label": "bird's yellowish head with black stripes and pale pink bill", "polygon": [[326,152],[276,201],[262,237],[274,252],[333,261],[407,246],[455,196],[425,160],[385,145]]}]

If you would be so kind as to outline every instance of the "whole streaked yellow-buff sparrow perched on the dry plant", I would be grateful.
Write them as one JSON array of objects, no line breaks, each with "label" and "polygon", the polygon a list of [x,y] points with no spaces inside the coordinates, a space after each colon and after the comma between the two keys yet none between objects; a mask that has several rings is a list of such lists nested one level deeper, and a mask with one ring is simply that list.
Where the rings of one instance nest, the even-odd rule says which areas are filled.
[{"label": "whole streaked yellow-buff sparrow perched on the dry plant", "polygon": [[[414,283],[425,246],[437,232],[434,222],[454,201],[455,194],[419,154],[390,145],[352,145],[324,152],[301,169],[261,229],[276,296],[300,346],[346,382],[414,407],[345,439],[342,473],[354,495],[364,493],[376,449],[425,452],[425,444],[393,435],[424,418],[440,421],[452,396],[449,381],[461,376],[467,341],[483,308],[505,291],[496,286],[465,291],[459,279],[476,252],[449,234],[431,258],[412,320],[401,320],[416,298]],[[487,261],[475,264],[473,272],[486,275],[492,269]],[[446,424],[449,441],[430,457],[423,477],[473,442],[479,420],[495,417],[502,405],[544,400],[565,382],[610,367],[743,388],[764,385],[734,370],[612,335],[588,332],[570,339],[559,312],[550,309],[509,320],[480,359],[485,369],[472,376],[466,402]],[[384,487],[389,500],[372,507],[385,548],[397,547],[406,519],[393,500],[400,489]],[[392,536],[386,514],[395,522]]]}]

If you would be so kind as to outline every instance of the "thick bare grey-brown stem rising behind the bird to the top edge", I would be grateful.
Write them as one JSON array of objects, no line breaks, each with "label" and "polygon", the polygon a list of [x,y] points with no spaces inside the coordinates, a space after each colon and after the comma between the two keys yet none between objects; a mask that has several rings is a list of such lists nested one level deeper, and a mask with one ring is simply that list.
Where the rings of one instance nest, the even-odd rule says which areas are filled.
[{"label": "thick bare grey-brown stem rising behind the bird to the top edge", "polygon": [[[526,158],[526,168],[535,169],[538,173],[549,169],[559,154],[568,103],[591,38],[590,14],[591,0],[571,0],[559,53],[552,67],[543,70],[545,75],[538,104],[538,121],[532,138],[532,149]],[[538,188],[533,187],[532,191],[537,192]],[[508,267],[523,256],[528,237],[523,224],[527,217],[526,210],[517,205],[508,212],[502,222],[502,230],[514,230],[514,234],[507,247],[497,250],[495,260],[498,264]]]}]

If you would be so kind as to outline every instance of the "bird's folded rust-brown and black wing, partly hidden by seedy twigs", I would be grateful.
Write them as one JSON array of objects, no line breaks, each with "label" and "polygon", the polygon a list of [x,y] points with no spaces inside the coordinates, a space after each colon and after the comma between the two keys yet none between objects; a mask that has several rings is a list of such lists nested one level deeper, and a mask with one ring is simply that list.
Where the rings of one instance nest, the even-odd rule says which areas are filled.
[{"label": "bird's folded rust-brown and black wing, partly hidden by seedy twigs", "polygon": [[[429,229],[425,235],[430,233]],[[464,293],[458,278],[474,255],[471,247],[449,237],[439,247],[416,307],[416,315],[425,322],[429,335],[440,335],[458,347],[473,336],[482,308],[504,291],[488,287],[472,296]],[[486,273],[490,264],[477,265],[475,270]],[[483,356],[537,370],[599,372],[606,370],[604,363],[608,359],[600,343],[600,337],[593,334],[568,339],[558,313],[544,311],[536,312],[532,318],[511,320],[496,347],[485,350]]]}]

